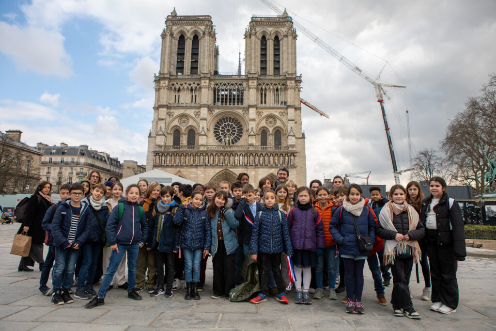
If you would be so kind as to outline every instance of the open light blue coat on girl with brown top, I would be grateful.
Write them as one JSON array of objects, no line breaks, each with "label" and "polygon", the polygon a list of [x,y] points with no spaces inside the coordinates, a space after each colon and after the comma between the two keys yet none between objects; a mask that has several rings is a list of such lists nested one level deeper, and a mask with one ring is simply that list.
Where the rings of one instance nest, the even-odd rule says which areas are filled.
[{"label": "open light blue coat on girl with brown top", "polygon": [[[226,247],[226,254],[230,255],[236,252],[238,248],[238,238],[236,236],[236,228],[240,225],[240,222],[234,217],[234,213],[228,209],[223,211],[225,219],[221,222],[222,225],[222,236],[224,237],[224,246]],[[212,229],[212,245],[210,248],[210,254],[212,257],[217,253],[217,222],[219,220],[219,208],[215,211],[215,217],[210,219],[210,225]]]}]

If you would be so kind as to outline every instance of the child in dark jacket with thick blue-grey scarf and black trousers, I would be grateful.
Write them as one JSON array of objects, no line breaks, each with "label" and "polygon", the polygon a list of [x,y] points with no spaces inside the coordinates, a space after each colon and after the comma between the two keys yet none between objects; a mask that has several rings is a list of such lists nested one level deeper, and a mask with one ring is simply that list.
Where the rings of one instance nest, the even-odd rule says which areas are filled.
[{"label": "child in dark jacket with thick blue-grey scarf and black trousers", "polygon": [[167,265],[167,279],[165,284],[166,298],[172,297],[172,283],[176,270],[176,255],[179,253],[179,240],[181,227],[174,225],[174,214],[179,203],[174,200],[174,188],[164,186],[160,190],[162,200],[158,201],[155,208],[155,229],[152,235],[152,250],[156,250],[157,258],[157,289],[150,294],[152,297],[164,293],[164,264]]}]

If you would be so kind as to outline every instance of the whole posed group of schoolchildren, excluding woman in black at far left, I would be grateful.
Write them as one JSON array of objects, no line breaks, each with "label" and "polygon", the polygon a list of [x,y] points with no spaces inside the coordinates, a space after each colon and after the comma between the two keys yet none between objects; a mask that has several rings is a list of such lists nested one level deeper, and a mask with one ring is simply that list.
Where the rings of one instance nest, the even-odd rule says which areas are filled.
[{"label": "whole posed group of schoolchildren, excluding woman in black at far left", "polygon": [[[328,289],[331,300],[346,291],[346,313],[363,314],[367,260],[379,304],[387,305],[384,287],[392,274],[394,315],[420,319],[409,287],[412,267],[420,262],[422,299],[432,300],[433,311],[456,311],[457,261],[466,256],[463,220],[442,178],[431,179],[426,199],[420,185],[410,182],[406,189],[391,187],[388,200],[378,187],[364,199],[359,185],[345,187],[340,176],[332,189],[318,180],[297,187],[288,176],[282,167],[275,182],[264,177],[258,189],[246,173],[219,187],[141,180],[129,185],[124,197],[118,181],[63,185],[62,202],[43,221],[51,237],[49,254],[55,255],[52,303],[73,302],[78,259],[74,296],[91,298],[85,308],[103,305],[114,285],[134,300],[141,300],[145,289],[170,298],[183,286],[186,300],[199,300],[211,256],[213,299],[229,298],[246,276],[241,265],[251,259],[258,263],[260,288],[248,298],[251,303],[272,296],[288,304],[286,292],[294,286],[294,302],[311,304],[310,294],[321,299]],[[103,280],[96,292],[100,268]],[[41,285],[44,294],[51,292],[46,280]]]}]

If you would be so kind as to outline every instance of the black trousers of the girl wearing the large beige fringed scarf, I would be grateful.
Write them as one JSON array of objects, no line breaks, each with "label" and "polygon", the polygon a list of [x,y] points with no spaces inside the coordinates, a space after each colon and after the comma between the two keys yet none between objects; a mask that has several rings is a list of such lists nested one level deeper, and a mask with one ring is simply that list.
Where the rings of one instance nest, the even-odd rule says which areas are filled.
[{"label": "black trousers of the girl wearing the large beige fringed scarf", "polygon": [[410,299],[408,284],[410,284],[413,258],[396,258],[394,265],[389,266],[393,275],[393,291],[391,292],[391,305],[393,305],[393,309],[412,308],[413,303],[412,299]]}]

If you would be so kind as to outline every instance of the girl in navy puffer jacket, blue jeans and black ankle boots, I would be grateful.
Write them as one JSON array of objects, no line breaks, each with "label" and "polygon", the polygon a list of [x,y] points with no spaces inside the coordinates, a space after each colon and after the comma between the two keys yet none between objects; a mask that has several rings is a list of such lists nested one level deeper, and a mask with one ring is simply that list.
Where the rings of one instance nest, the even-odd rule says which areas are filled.
[{"label": "girl in navy puffer jacket, blue jeans and black ankle boots", "polygon": [[210,250],[212,235],[203,195],[199,191],[193,192],[189,202],[178,207],[174,224],[183,225],[180,247],[185,258],[185,300],[200,300],[198,285],[202,252],[205,258]]}]

